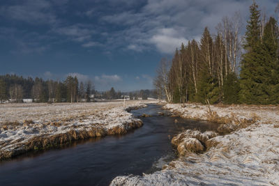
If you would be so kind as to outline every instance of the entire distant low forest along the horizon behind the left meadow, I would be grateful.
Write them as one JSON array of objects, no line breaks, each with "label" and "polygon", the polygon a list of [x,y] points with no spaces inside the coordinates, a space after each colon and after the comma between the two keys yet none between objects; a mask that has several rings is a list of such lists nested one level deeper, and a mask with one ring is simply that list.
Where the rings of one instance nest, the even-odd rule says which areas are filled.
[{"label": "entire distant low forest along the horizon behind the left meadow", "polygon": [[112,87],[108,91],[96,91],[93,83],[79,82],[77,77],[68,76],[64,81],[44,80],[17,75],[0,75],[0,102],[22,102],[32,99],[33,102],[91,102],[100,99],[115,100],[128,95],[137,100],[156,98],[156,91],[140,90],[121,93]]}]

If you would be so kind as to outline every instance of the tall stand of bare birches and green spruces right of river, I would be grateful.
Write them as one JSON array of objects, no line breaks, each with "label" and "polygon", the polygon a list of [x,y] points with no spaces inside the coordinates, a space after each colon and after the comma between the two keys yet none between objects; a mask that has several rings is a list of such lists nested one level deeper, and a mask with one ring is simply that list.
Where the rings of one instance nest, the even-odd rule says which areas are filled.
[{"label": "tall stand of bare birches and green spruces right of river", "polygon": [[176,49],[172,61],[162,59],[153,81],[158,97],[180,103],[278,104],[276,19],[266,20],[253,1],[242,40],[240,29],[239,13],[224,17],[215,36],[206,27],[199,41]]}]

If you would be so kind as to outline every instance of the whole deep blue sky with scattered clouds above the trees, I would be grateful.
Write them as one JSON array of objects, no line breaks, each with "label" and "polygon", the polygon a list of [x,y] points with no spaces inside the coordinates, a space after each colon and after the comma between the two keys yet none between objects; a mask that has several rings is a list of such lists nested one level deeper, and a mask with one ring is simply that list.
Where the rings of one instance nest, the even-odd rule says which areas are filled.
[{"label": "whole deep blue sky with scattered clouds above the trees", "polygon": [[[91,80],[99,91],[153,88],[161,58],[211,33],[251,0],[1,0],[0,75]],[[275,15],[278,0],[258,0]]]}]

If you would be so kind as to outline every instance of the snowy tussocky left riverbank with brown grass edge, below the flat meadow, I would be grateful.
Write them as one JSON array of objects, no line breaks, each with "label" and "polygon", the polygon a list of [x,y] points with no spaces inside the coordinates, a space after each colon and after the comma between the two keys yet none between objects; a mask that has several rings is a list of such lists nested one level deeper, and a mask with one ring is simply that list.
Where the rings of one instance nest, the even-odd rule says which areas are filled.
[{"label": "snowy tussocky left riverbank with brown grass edge, below the flat meadow", "polygon": [[[110,104],[110,103],[107,103]],[[126,134],[141,127],[142,121],[128,113],[131,109],[146,107],[133,103],[127,107],[110,106],[107,109],[75,118],[47,122],[10,122],[1,125],[0,160],[16,157],[31,150],[57,148],[80,139]],[[31,120],[30,120],[31,121]],[[13,124],[15,123],[15,124]]]}]

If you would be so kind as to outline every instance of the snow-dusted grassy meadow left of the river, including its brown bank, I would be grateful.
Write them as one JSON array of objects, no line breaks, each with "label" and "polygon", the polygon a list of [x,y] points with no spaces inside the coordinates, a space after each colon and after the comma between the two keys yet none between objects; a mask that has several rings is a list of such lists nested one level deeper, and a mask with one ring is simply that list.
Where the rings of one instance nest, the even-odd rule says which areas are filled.
[{"label": "snow-dusted grassy meadow left of the river, including its brown bank", "polygon": [[[150,102],[150,101],[149,101]],[[140,127],[127,109],[144,101],[0,104],[0,159],[75,139],[121,134]]]}]

